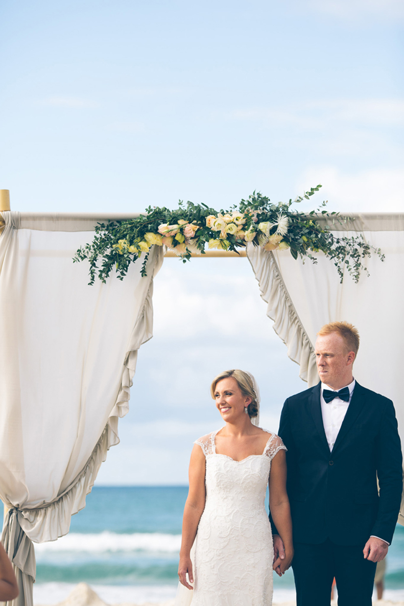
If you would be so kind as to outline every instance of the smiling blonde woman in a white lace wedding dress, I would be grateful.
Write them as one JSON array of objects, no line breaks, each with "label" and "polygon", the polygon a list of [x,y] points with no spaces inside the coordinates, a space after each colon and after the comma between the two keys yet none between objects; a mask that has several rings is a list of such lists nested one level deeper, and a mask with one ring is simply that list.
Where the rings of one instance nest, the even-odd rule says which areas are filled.
[{"label": "smiling blonde woman in a white lace wedding dress", "polygon": [[[293,557],[286,448],[255,425],[260,399],[252,375],[224,371],[210,393],[226,424],[192,450],[175,605],[271,606],[272,567],[281,576]],[[285,549],[275,561],[264,507],[268,481]]]}]

